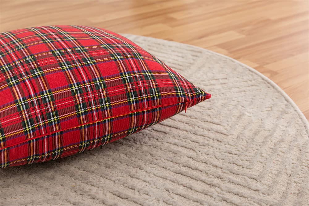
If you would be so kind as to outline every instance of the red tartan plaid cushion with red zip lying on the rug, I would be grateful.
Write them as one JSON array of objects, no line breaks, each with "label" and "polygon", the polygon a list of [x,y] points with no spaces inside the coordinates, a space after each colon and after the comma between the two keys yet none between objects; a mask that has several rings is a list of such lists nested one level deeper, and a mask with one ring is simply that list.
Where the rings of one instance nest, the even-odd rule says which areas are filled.
[{"label": "red tartan plaid cushion with red zip lying on the rug", "polygon": [[3,32],[0,49],[0,168],[93,149],[211,96],[101,28]]}]

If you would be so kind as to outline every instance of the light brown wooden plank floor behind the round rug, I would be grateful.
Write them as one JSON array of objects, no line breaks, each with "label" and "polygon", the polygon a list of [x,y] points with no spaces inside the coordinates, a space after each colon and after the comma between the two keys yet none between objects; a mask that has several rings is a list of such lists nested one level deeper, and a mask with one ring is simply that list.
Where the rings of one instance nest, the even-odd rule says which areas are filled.
[{"label": "light brown wooden plank floor behind the round rug", "polygon": [[309,118],[309,0],[0,0],[0,32],[77,24],[228,55],[277,83]]}]

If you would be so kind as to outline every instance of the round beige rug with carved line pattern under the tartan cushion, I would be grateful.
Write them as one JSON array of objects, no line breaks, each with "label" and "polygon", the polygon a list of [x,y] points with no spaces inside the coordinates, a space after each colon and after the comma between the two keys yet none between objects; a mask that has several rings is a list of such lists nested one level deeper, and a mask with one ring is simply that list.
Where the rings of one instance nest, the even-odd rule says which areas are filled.
[{"label": "round beige rug with carved line pattern under the tartan cushion", "polygon": [[0,205],[309,205],[309,124],[257,71],[125,35],[212,94],[100,148],[0,170]]}]

